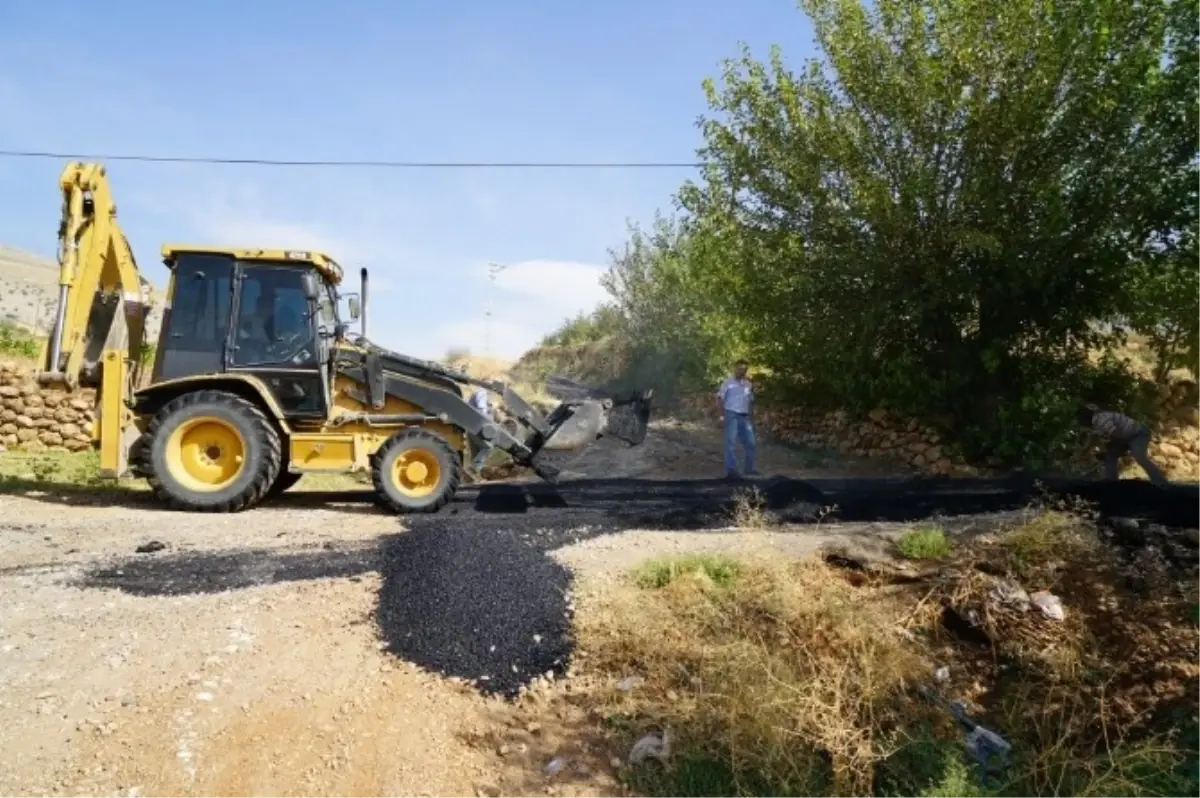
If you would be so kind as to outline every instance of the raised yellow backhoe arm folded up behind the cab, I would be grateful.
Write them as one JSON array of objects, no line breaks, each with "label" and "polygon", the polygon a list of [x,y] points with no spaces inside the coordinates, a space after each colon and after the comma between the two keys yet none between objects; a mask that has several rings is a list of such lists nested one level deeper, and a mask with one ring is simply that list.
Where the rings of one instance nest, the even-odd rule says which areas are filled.
[{"label": "raised yellow backhoe arm folded up behind the cab", "polygon": [[74,391],[97,388],[92,437],[101,474],[125,470],[132,433],[128,397],[140,370],[150,284],[116,221],[104,167],[70,163],[59,179],[59,300],[37,382]]}]

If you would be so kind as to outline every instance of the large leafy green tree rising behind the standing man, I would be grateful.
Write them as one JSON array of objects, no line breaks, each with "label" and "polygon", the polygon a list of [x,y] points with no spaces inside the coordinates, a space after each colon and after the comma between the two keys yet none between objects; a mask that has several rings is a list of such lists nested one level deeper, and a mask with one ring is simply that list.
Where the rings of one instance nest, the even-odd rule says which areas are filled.
[{"label": "large leafy green tree rising behind the standing man", "polygon": [[823,59],[706,85],[679,197],[706,274],[814,397],[1044,454],[1132,264],[1195,212],[1195,0],[800,6]]}]

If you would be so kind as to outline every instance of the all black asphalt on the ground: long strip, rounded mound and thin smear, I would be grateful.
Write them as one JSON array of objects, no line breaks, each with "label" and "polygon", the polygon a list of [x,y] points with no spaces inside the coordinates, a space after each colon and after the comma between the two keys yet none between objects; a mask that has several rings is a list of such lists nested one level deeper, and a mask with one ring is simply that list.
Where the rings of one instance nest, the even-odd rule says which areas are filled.
[{"label": "all black asphalt on the ground: long strip, rounded mound and thin smear", "polygon": [[[570,661],[569,571],[547,552],[626,529],[727,527],[744,492],[790,524],[917,521],[1016,510],[1046,492],[1092,502],[1102,516],[1200,526],[1200,490],[1140,481],[893,479],[578,480],[463,488],[442,512],[404,518],[373,544],[307,550],[158,552],[86,571],[80,587],[134,595],[218,593],[280,582],[382,576],[378,634],[422,668],[511,696]],[[288,496],[277,499],[286,504]],[[344,497],[340,497],[344,498]],[[305,503],[312,496],[305,497]],[[804,534],[796,528],[796,534]]]}]

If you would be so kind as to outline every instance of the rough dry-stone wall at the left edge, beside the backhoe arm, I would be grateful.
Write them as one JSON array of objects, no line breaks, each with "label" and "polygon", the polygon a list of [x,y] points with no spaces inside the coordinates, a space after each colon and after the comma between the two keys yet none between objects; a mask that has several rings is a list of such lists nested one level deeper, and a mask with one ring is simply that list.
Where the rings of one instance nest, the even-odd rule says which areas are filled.
[{"label": "rough dry-stone wall at the left edge, beside the backhoe arm", "polygon": [[29,366],[0,362],[0,445],[23,451],[91,448],[95,391],[46,390]]}]

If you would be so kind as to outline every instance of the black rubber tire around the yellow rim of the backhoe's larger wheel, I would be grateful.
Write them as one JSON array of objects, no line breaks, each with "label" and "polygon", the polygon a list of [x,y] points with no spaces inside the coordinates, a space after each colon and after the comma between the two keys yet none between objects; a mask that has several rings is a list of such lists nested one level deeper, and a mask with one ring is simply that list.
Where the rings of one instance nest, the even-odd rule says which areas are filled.
[{"label": "black rubber tire around the yellow rim of the backhoe's larger wheel", "polygon": [[[251,434],[257,437],[263,444],[263,468],[256,475],[253,482],[238,496],[230,497],[220,504],[196,504],[174,496],[166,490],[161,475],[154,468],[154,442],[162,431],[162,425],[168,418],[180,410],[197,404],[222,404],[248,416]],[[138,470],[146,475],[150,490],[154,491],[158,500],[166,503],[173,510],[185,510],[188,512],[240,512],[241,510],[246,510],[266,496],[266,492],[275,484],[283,462],[283,445],[278,430],[276,430],[266,414],[253,402],[248,402],[236,394],[221,390],[199,390],[172,400],[154,415],[146,427],[144,440],[145,444],[140,446],[142,462]]]}]

